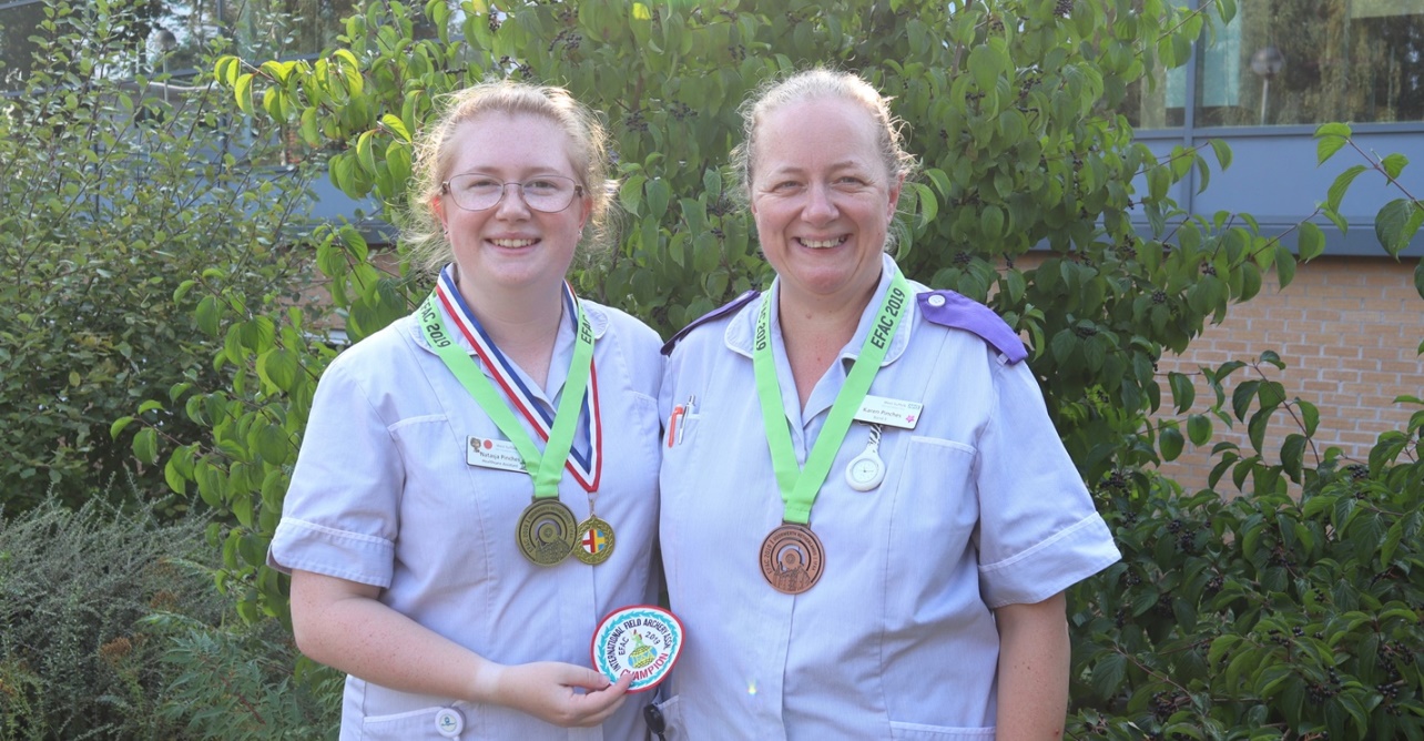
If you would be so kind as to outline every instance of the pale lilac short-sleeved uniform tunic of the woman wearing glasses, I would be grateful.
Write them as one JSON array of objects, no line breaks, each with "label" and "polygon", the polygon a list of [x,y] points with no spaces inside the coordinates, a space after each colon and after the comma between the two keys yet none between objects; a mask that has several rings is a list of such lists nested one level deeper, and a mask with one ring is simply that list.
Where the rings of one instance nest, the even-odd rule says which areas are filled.
[{"label": "pale lilac short-sleeved uniform tunic of the woman wearing glasses", "polygon": [[[269,561],[377,586],[384,604],[493,661],[591,665],[600,617],[648,594],[662,358],[656,333],[637,319],[590,301],[582,306],[595,336],[602,422],[597,514],[615,533],[605,563],[568,557],[541,567],[520,553],[515,526],[533,479],[468,463],[471,439],[506,436],[426,345],[414,316],[345,351],[323,375]],[[443,319],[454,326],[447,314]],[[459,332],[451,336],[470,349]],[[525,383],[548,410],[557,409],[572,348],[565,316],[550,398]],[[585,453],[590,445],[590,435],[575,440]],[[588,516],[588,494],[568,473],[560,500],[580,520]],[[504,707],[349,677],[340,738],[621,741],[642,738],[642,727],[635,703],[601,728],[558,728]]]}]

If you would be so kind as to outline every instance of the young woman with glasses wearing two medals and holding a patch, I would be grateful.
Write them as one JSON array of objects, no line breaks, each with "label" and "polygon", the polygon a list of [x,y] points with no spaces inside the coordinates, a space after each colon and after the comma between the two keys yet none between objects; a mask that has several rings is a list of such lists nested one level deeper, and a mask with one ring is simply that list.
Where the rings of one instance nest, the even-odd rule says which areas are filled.
[{"label": "young woman with glasses wearing two medals and holding a patch", "polygon": [[422,134],[436,289],[323,375],[271,549],[298,646],[349,674],[342,738],[641,737],[588,641],[648,590],[659,339],[564,281],[604,231],[604,141],[514,83]]}]

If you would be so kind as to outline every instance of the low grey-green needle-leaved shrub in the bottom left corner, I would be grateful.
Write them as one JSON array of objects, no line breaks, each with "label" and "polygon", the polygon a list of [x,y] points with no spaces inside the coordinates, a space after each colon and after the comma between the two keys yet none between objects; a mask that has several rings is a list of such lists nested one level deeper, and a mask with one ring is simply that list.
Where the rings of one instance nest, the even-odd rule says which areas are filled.
[{"label": "low grey-green needle-leaved shrub in the bottom left corner", "polygon": [[121,513],[100,492],[0,519],[0,737],[161,738],[162,641],[138,621],[184,610],[216,623],[211,579],[179,561],[211,553],[206,522]]}]

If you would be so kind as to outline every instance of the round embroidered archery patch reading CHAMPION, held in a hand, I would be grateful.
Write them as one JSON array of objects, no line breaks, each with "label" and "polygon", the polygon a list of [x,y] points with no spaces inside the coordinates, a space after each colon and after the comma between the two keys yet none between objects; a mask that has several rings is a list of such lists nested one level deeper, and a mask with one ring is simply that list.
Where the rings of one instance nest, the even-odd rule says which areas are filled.
[{"label": "round embroidered archery patch reading CHAMPION, held in a hand", "polygon": [[668,677],[682,653],[682,623],[661,607],[624,607],[598,624],[591,650],[594,667],[608,681],[631,673],[629,693],[651,690]]}]

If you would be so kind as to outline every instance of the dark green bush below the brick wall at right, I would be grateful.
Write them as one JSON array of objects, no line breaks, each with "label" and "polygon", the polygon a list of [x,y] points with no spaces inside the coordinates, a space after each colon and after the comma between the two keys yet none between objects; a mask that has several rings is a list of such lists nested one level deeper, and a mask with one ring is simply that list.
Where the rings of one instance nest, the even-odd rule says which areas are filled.
[{"label": "dark green bush below the brick wall at right", "polygon": [[[1279,383],[1243,379],[1227,400],[1245,368],[1206,370],[1208,413],[1246,422],[1253,447],[1218,443],[1210,489],[1104,482],[1124,560],[1074,590],[1074,732],[1424,738],[1424,399],[1397,399],[1420,410],[1351,463],[1314,453],[1314,406]],[[1279,457],[1273,416],[1300,430]]]}]

